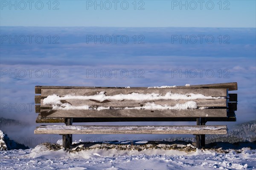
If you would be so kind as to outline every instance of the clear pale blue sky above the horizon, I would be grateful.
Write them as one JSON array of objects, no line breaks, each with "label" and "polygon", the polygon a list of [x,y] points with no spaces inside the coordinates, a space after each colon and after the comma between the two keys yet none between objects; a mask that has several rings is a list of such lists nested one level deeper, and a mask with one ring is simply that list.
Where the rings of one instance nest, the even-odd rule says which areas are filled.
[{"label": "clear pale blue sky above the horizon", "polygon": [[1,26],[256,27],[255,0],[22,2],[1,0]]}]

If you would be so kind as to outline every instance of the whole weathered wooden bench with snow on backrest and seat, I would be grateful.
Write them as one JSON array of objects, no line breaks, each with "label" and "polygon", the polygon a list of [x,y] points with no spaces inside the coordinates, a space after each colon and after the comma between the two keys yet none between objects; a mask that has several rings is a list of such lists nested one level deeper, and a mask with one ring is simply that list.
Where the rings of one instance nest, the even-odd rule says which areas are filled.
[{"label": "whole weathered wooden bench with snow on backrest and seat", "polygon": [[[193,134],[196,147],[205,134],[226,134],[226,125],[209,121],[236,121],[237,83],[149,87],[35,86],[35,134],[63,135],[70,149],[72,134]],[[73,126],[73,122],[196,121],[195,126]],[[56,125],[55,123],[65,123]]]}]

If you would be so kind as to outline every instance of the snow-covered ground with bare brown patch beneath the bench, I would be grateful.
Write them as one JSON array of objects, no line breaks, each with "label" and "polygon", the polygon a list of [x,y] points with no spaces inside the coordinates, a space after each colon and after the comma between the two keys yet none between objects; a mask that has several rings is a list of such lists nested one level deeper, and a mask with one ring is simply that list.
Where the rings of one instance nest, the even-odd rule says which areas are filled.
[{"label": "snow-covered ground with bare brown patch beneath the bench", "polygon": [[41,144],[34,149],[1,151],[0,169],[256,170],[256,150],[250,147],[196,150],[191,144],[137,141],[119,145],[79,143],[71,152],[65,152],[59,145],[54,146]]}]

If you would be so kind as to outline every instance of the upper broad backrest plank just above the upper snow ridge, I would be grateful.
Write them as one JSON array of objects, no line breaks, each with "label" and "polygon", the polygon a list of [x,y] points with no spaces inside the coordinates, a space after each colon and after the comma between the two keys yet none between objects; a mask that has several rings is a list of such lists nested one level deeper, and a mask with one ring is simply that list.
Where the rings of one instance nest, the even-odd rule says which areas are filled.
[{"label": "upper broad backrest plank just above the upper snow ridge", "polygon": [[205,96],[227,96],[227,89],[177,89],[177,88],[165,88],[165,89],[42,89],[41,96],[47,97],[48,95],[60,95],[61,97],[65,95],[96,95],[98,92],[106,92],[106,95],[118,95],[118,94],[131,94],[133,92],[142,94],[157,93],[160,95],[166,95],[167,92],[177,93],[177,94],[202,94]]}]

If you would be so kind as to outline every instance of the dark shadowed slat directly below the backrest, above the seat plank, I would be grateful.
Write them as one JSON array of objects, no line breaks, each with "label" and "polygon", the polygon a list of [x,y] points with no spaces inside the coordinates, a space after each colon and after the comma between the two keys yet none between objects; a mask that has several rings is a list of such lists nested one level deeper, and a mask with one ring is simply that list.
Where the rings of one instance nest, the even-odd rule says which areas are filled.
[{"label": "dark shadowed slat directly below the backrest, above the seat plank", "polygon": [[[236,121],[235,114],[225,118],[205,118],[206,121]],[[81,122],[143,122],[143,121],[196,121],[196,118],[73,118],[74,123]],[[65,123],[65,118],[47,118],[38,115],[36,123]]]}]

